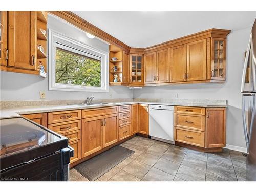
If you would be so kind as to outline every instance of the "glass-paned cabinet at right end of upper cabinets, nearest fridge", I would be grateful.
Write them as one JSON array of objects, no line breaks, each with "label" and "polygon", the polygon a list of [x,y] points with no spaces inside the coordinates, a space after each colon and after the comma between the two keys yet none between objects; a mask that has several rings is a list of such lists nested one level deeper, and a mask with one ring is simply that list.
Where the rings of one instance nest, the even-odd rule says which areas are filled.
[{"label": "glass-paned cabinet at right end of upper cabinets, nearest fridge", "polygon": [[226,39],[212,38],[211,79],[226,78]]}]

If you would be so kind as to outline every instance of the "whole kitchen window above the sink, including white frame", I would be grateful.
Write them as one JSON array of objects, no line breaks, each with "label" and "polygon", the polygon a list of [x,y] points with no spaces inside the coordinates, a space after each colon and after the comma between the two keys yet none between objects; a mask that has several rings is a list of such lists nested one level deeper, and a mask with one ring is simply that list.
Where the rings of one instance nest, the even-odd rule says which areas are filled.
[{"label": "whole kitchen window above the sink, including white frame", "polygon": [[108,92],[108,53],[49,29],[49,90]]}]

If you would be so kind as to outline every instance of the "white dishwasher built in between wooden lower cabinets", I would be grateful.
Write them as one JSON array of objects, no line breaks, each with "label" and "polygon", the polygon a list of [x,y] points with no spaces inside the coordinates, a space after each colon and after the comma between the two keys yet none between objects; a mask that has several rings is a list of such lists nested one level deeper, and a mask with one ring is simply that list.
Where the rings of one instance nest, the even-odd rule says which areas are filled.
[{"label": "white dishwasher built in between wooden lower cabinets", "polygon": [[174,144],[174,106],[150,105],[150,136]]}]

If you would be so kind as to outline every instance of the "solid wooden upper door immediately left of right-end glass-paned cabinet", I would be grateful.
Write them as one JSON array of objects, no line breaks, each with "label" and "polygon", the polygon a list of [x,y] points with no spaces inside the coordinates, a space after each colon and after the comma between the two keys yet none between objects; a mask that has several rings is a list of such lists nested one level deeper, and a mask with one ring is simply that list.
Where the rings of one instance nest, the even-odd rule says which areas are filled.
[{"label": "solid wooden upper door immediately left of right-end glass-paned cabinet", "polygon": [[207,40],[187,44],[187,81],[206,80]]}]

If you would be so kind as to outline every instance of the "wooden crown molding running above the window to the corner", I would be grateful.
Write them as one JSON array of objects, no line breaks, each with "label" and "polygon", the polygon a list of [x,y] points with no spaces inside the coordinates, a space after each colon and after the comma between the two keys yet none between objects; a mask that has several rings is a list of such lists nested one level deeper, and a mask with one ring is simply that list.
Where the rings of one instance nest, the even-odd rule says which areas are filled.
[{"label": "wooden crown molding running above the window to the corner", "polygon": [[110,34],[102,31],[101,29],[97,28],[93,24],[87,22],[83,18],[79,17],[78,15],[72,13],[71,11],[49,11],[49,13],[56,15],[67,22],[77,26],[78,28],[91,33],[92,35],[95,35],[107,42],[109,42],[112,45],[118,46],[124,51],[129,52],[131,47],[124,44],[122,41],[118,40],[117,38],[111,36]]}]

